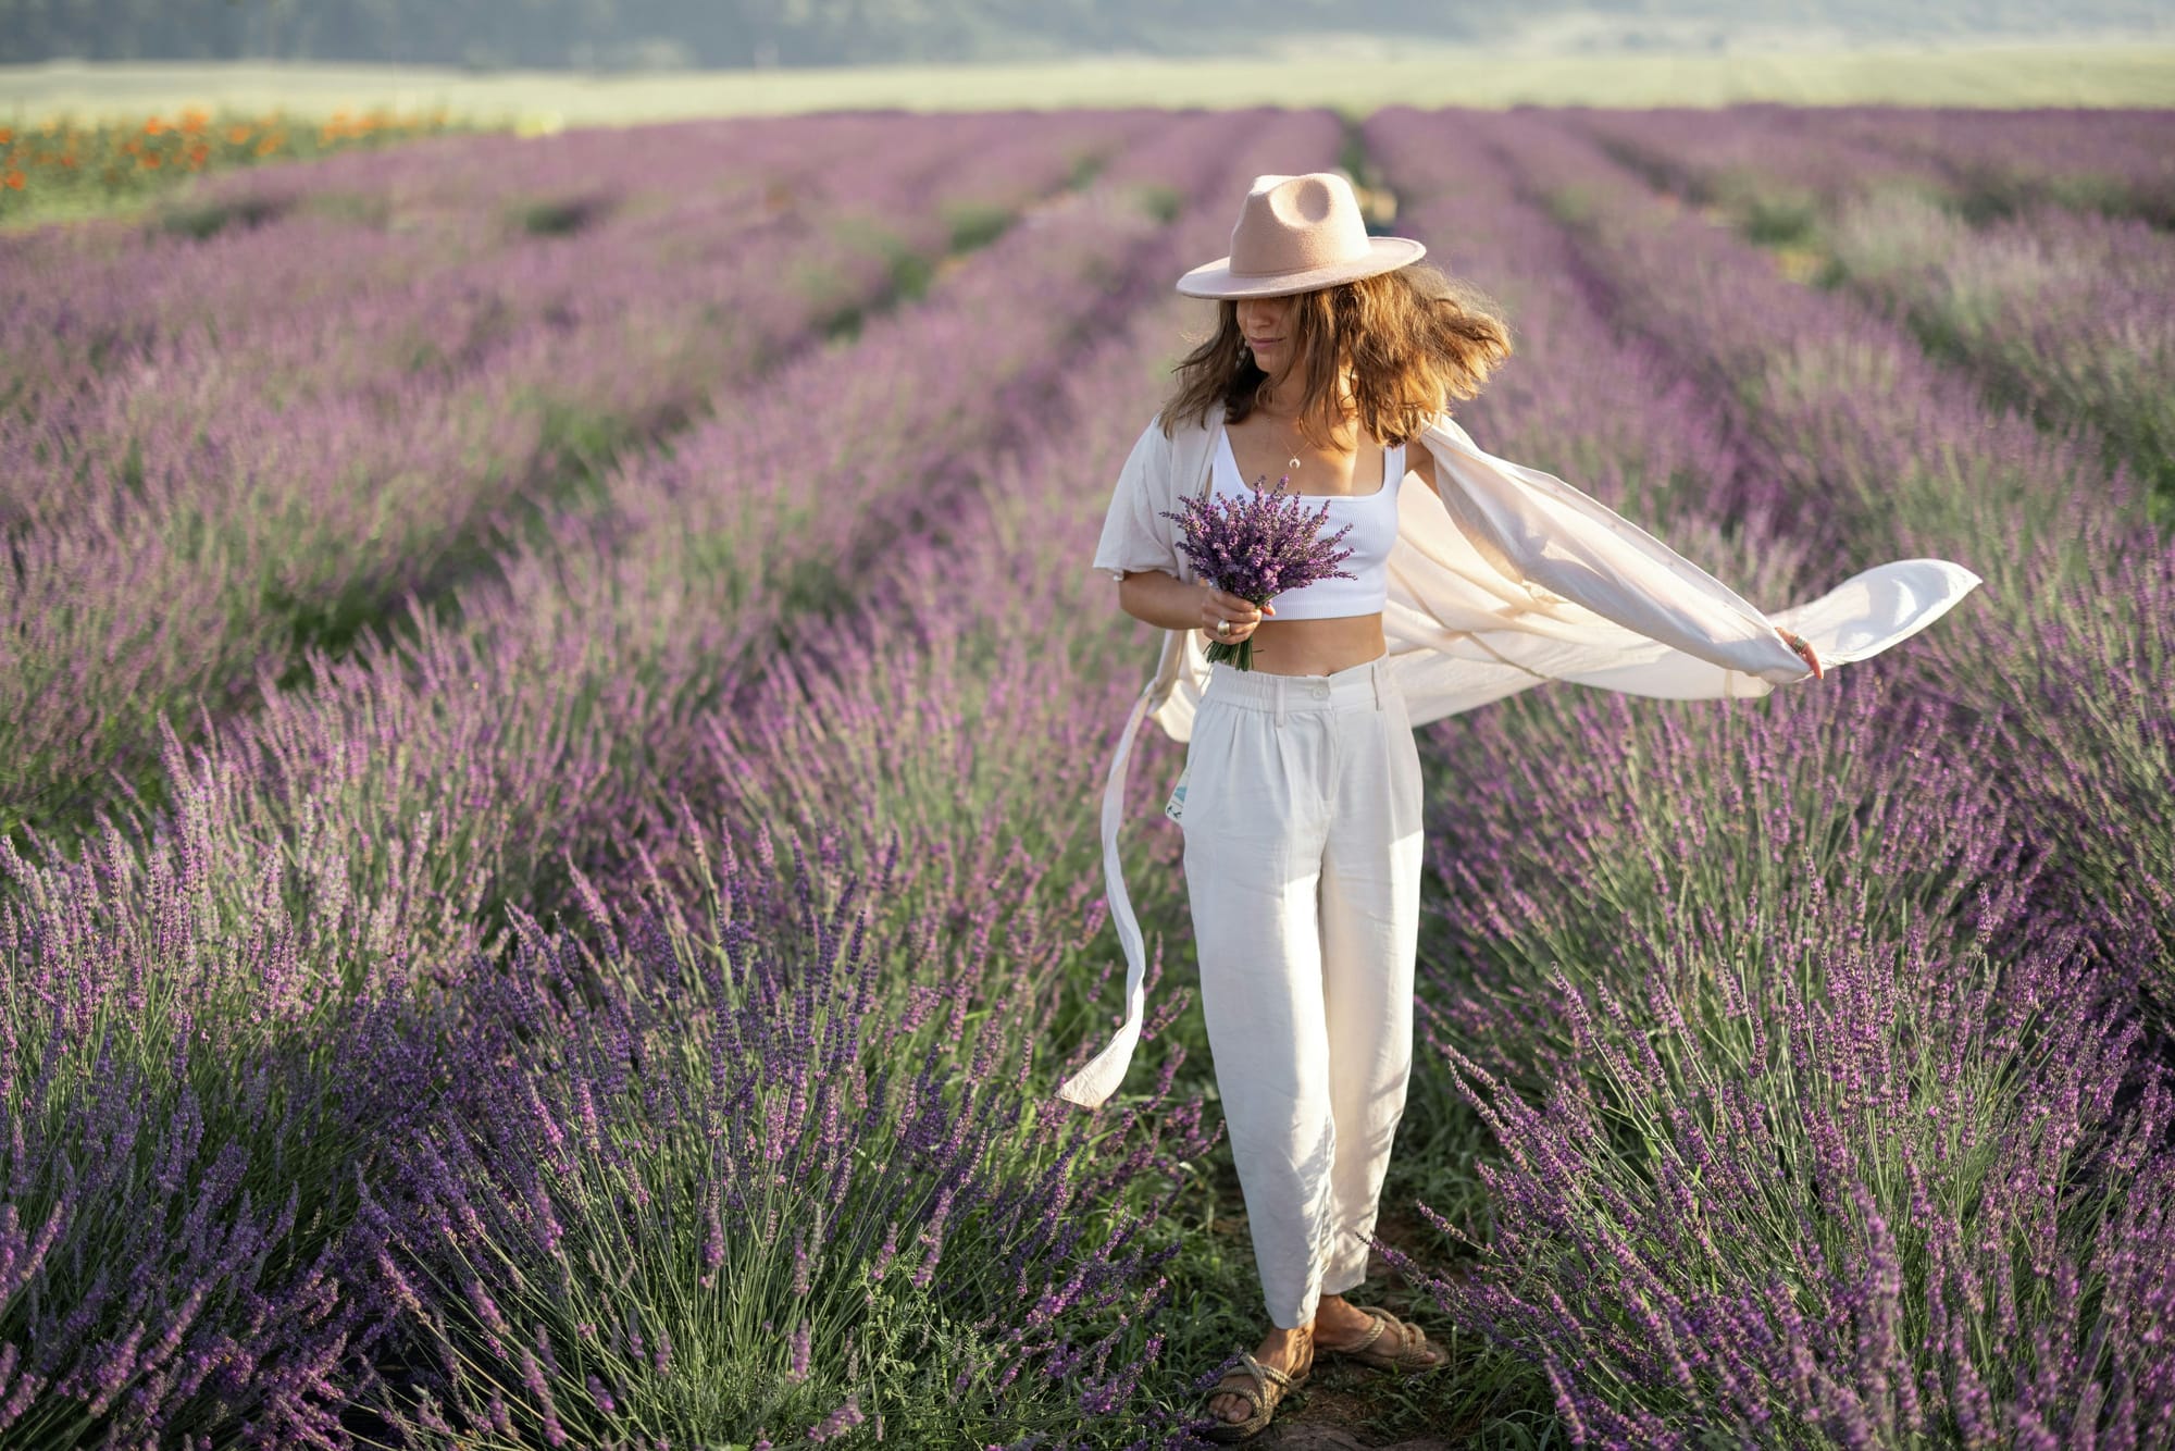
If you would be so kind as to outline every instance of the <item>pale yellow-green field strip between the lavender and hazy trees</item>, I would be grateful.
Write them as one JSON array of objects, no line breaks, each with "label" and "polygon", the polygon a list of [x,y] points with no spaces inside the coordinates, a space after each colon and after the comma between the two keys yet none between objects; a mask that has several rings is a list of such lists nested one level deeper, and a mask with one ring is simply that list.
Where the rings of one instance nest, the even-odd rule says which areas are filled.
[{"label": "pale yellow-green field strip between the lavender and hazy trees", "polygon": [[1853,52],[1512,52],[1414,46],[1396,59],[1098,59],[1035,65],[885,65],[587,76],[398,65],[11,65],[0,115],[109,115],[183,104],[448,107],[552,128],[692,115],[903,107],[1335,107],[1383,104],[2175,104],[2175,46],[1984,46]]}]

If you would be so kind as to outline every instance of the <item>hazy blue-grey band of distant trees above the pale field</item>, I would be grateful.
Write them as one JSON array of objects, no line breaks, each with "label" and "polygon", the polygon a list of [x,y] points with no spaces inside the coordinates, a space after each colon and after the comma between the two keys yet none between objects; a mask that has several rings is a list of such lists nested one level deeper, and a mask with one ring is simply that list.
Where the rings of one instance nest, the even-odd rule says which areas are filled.
[{"label": "hazy blue-grey band of distant trees above the pale field", "polygon": [[337,61],[800,70],[1081,59],[1366,61],[1405,48],[1775,54],[2175,39],[2147,0],[0,0],[0,65]]}]

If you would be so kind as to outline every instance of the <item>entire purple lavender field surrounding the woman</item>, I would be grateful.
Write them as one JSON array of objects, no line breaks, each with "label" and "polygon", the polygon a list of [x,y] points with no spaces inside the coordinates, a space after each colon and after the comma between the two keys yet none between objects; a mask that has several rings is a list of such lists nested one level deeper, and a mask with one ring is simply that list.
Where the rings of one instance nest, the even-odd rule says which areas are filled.
[{"label": "entire purple lavender field surrounding the woman", "polygon": [[0,1444],[1205,1444],[1266,1320],[1153,733],[1148,1033],[1053,1092],[1155,646],[1088,559],[1172,278],[1340,163],[1507,311],[1481,446],[1753,600],[1984,587],[1762,700],[1422,729],[1355,1299],[1451,1366],[1270,1440],[2175,1444],[2171,157],[870,113],[0,237]]}]

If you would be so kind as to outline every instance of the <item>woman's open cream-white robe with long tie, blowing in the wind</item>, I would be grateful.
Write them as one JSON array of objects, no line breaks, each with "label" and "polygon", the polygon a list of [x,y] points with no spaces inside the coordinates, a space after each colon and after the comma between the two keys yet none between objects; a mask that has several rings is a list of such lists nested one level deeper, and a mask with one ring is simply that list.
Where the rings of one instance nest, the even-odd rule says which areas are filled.
[{"label": "woman's open cream-white robe with long tie, blowing in the wind", "polygon": [[[1222,422],[1151,422],[1111,494],[1094,568],[1107,574],[1194,572],[1177,550],[1181,489],[1203,489]],[[1414,724],[1573,681],[1668,700],[1753,698],[1812,679],[1777,627],[1812,642],[1820,668],[1879,655],[1979,585],[1947,559],[1899,559],[1851,574],[1827,594],[1764,613],[1631,520],[1555,474],[1499,459],[1446,416],[1420,439],[1433,489],[1403,489],[1390,548],[1383,635]],[[1057,1096],[1109,1099],[1146,1016],[1146,948],[1118,861],[1127,764],[1142,718],[1190,740],[1207,683],[1201,631],[1166,631],[1155,679],[1127,718],[1103,785],[1103,879],[1127,955],[1127,1018],[1118,1035]]]}]

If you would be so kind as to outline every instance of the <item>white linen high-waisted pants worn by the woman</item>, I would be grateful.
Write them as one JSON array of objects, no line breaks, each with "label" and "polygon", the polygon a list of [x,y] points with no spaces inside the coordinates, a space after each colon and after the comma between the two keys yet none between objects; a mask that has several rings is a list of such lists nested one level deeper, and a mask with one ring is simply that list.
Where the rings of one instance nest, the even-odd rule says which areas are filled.
[{"label": "white linen high-waisted pants worn by the woman", "polygon": [[1201,1012],[1285,1329],[1366,1279],[1412,1075],[1420,755],[1385,666],[1216,666],[1185,748]]}]

